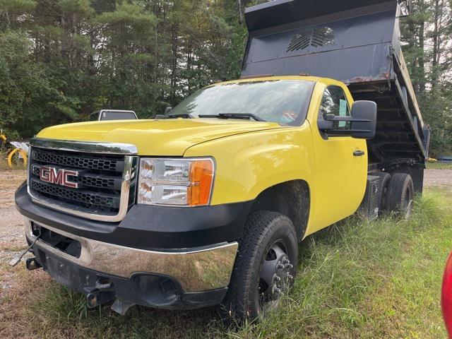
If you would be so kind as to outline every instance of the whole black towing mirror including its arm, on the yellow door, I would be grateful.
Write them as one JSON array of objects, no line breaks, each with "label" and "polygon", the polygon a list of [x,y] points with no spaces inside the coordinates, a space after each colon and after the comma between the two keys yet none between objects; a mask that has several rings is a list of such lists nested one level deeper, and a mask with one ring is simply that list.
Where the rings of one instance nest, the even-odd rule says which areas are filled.
[{"label": "whole black towing mirror including its arm, on the yellow door", "polygon": [[[350,129],[335,129],[335,121],[350,121]],[[321,131],[333,136],[352,136],[359,139],[371,139],[376,131],[376,103],[373,101],[355,101],[352,106],[351,117],[340,117],[326,114],[323,120],[317,121]]]}]

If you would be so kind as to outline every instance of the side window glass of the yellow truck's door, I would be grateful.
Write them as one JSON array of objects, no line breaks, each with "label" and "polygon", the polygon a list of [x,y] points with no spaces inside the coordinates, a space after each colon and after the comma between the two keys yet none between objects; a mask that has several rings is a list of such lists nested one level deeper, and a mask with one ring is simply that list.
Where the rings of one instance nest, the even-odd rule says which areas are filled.
[{"label": "side window glass of the yellow truck's door", "polygon": [[[320,105],[319,120],[323,120],[326,114],[350,117],[350,107],[342,88],[338,86],[326,88]],[[334,121],[334,129],[347,131],[350,129],[350,121]]]}]

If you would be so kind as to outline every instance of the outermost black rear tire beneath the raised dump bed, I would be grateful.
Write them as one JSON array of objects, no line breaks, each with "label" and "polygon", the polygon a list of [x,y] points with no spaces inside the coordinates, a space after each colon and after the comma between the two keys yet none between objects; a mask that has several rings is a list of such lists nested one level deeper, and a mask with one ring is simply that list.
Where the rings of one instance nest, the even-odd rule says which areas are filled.
[{"label": "outermost black rear tire beneath the raised dump bed", "polygon": [[415,188],[410,174],[395,173],[388,186],[388,208],[403,218],[410,218]]}]

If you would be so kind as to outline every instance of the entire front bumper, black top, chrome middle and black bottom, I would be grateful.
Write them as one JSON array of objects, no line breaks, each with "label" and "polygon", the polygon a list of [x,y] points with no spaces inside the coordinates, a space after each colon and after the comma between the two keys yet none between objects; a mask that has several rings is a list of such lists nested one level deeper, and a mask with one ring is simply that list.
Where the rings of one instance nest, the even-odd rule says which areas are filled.
[{"label": "entire front bumper, black top, chrome middle and black bottom", "polygon": [[109,299],[164,309],[222,302],[250,206],[133,206],[121,222],[107,223],[32,203],[25,185],[16,191],[30,244],[31,222],[79,244],[70,255],[37,240],[36,260],[55,280],[88,297],[107,281]]}]

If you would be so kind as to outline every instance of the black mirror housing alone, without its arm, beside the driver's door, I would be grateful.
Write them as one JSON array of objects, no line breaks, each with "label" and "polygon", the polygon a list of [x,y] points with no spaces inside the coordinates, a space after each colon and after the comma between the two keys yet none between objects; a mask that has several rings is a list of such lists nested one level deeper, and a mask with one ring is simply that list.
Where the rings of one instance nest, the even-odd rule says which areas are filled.
[{"label": "black mirror housing alone, without its arm, beside the driver's door", "polygon": [[353,138],[371,139],[376,131],[376,103],[373,101],[355,101],[352,106],[350,132]]}]

